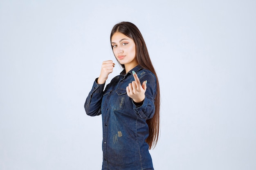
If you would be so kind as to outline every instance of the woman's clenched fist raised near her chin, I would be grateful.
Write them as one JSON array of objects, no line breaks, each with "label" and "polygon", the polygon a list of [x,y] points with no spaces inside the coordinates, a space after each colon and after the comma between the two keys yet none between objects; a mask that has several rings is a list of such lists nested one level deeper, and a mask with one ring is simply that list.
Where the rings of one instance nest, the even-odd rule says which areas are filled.
[{"label": "woman's clenched fist raised near her chin", "polygon": [[104,61],[101,65],[101,74],[98,78],[98,84],[104,84],[108,79],[108,75],[113,72],[113,68],[115,67],[115,63],[112,60]]}]

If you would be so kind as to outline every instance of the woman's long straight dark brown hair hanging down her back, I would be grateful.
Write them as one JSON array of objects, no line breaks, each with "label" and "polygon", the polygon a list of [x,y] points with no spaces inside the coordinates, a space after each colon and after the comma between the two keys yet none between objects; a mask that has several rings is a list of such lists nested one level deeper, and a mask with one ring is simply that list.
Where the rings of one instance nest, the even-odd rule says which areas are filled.
[{"label": "woman's long straight dark brown hair hanging down her back", "polygon": [[[134,24],[132,24],[130,22],[120,22],[120,23],[116,24],[111,31],[110,42],[111,42],[111,38],[112,38],[113,34],[116,32],[123,33],[124,35],[128,36],[135,42],[136,58],[137,58],[139,65],[142,66],[143,68],[146,68],[149,71],[151,71],[157,79],[157,82],[156,82],[157,83],[157,94],[155,97],[155,114],[154,114],[153,118],[146,120],[146,123],[148,124],[148,128],[149,128],[149,136],[146,139],[146,142],[149,145],[149,149],[151,149],[151,148],[154,148],[155,145],[157,144],[157,140],[158,140],[158,136],[159,136],[160,91],[159,91],[159,82],[158,82],[157,74],[156,74],[155,68],[153,67],[153,64],[150,60],[146,43],[145,43],[139,29],[137,28],[137,26],[135,26]],[[112,49],[113,49],[113,47],[112,47]],[[120,65],[124,68],[123,64],[120,64]]]}]

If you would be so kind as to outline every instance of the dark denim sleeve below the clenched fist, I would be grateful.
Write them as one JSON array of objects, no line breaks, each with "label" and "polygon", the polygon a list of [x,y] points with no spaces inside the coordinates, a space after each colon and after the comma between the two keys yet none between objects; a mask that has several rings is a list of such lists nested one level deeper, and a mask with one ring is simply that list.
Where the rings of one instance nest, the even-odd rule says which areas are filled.
[{"label": "dark denim sleeve below the clenched fist", "polygon": [[89,116],[101,115],[101,101],[105,84],[98,84],[97,80],[98,78],[95,79],[84,104],[85,112]]}]

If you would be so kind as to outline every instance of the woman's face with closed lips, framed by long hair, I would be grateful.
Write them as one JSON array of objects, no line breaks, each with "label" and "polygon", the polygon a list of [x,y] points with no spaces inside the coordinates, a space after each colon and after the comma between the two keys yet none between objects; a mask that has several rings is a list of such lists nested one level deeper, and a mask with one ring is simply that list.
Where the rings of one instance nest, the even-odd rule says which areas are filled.
[{"label": "woman's face with closed lips, framed by long hair", "polygon": [[[131,38],[122,33],[116,32],[111,38],[111,45],[113,47],[115,57],[120,64],[124,64],[125,68],[132,69],[138,65],[135,57],[135,42]],[[126,71],[130,70],[126,69]]]}]

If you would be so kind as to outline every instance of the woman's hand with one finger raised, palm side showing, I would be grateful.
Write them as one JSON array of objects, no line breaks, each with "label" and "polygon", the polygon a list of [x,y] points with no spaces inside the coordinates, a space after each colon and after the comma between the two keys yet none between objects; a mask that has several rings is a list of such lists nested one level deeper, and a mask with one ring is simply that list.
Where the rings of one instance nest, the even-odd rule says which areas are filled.
[{"label": "woman's hand with one finger raised, palm side showing", "polygon": [[127,92],[127,95],[130,98],[132,98],[135,103],[141,103],[145,99],[147,81],[144,81],[141,85],[139,81],[139,77],[134,71],[132,71],[132,75],[135,81],[133,81],[126,87],[126,92]]}]

